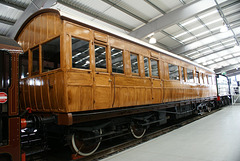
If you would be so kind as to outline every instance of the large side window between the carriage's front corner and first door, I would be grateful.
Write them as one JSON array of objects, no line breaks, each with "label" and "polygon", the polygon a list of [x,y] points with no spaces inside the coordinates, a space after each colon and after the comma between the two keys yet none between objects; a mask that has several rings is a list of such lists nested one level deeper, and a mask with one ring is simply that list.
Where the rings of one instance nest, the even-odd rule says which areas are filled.
[{"label": "large side window between the carriage's front corner and first door", "polygon": [[89,42],[72,37],[72,67],[89,69]]}]

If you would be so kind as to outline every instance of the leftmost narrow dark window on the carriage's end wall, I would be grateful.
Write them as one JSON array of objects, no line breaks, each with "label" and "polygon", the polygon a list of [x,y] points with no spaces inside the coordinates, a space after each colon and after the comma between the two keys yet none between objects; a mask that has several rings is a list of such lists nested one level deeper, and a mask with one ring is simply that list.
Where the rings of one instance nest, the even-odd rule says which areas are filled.
[{"label": "leftmost narrow dark window on the carriage's end wall", "polygon": [[20,54],[20,69],[19,69],[19,76],[20,78],[26,78],[28,76],[28,51],[24,54]]}]

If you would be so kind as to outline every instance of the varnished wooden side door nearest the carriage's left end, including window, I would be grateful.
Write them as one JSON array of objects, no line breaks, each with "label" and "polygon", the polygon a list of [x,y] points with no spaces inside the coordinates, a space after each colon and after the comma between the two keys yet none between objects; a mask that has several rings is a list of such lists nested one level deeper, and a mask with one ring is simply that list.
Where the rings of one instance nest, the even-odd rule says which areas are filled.
[{"label": "varnished wooden side door nearest the carriage's left end, including window", "polygon": [[[95,76],[94,76],[94,109],[106,109],[111,107],[111,78],[108,71],[108,46],[102,35],[95,33],[94,54],[95,54]],[[102,41],[96,41],[96,38]],[[107,42],[107,41],[106,41]]]}]

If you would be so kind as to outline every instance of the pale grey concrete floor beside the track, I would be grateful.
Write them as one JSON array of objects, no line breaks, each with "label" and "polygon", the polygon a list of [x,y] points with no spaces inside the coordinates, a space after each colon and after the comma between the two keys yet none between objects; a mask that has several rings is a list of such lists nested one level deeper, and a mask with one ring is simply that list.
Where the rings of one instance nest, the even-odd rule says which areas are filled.
[{"label": "pale grey concrete floor beside the track", "polygon": [[240,161],[240,104],[102,161]]}]

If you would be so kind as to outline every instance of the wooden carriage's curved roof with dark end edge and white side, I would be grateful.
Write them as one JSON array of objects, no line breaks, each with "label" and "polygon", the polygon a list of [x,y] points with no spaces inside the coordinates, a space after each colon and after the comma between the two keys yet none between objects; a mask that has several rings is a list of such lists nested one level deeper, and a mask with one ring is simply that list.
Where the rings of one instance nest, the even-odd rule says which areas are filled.
[{"label": "wooden carriage's curved roof with dark end edge and white side", "polygon": [[109,27],[100,25],[100,24],[98,24],[98,23],[95,23],[95,22],[90,21],[90,20],[88,20],[88,19],[85,19],[85,18],[83,18],[83,17],[76,17],[76,16],[74,16],[74,15],[71,15],[71,14],[68,14],[68,13],[66,13],[66,12],[62,12],[62,11],[59,11],[59,10],[55,10],[55,9],[43,9],[43,10],[39,10],[39,11],[37,11],[36,13],[34,13],[33,15],[31,15],[31,16],[23,23],[23,25],[21,26],[20,30],[18,31],[18,33],[17,33],[16,36],[15,36],[15,40],[16,40],[16,38],[19,36],[19,34],[20,34],[21,31],[23,30],[23,28],[27,25],[27,23],[31,21],[31,19],[33,19],[34,17],[36,17],[36,16],[38,16],[38,15],[40,15],[40,14],[42,14],[42,13],[47,13],[47,12],[57,13],[57,14],[60,16],[60,18],[63,19],[63,20],[73,21],[74,23],[79,23],[79,24],[81,24],[81,25],[90,26],[90,27],[92,27],[92,28],[94,28],[94,29],[96,29],[96,30],[100,30],[100,31],[105,32],[105,33],[107,33],[107,34],[114,35],[114,36],[123,38],[123,39],[125,39],[125,40],[131,41],[131,42],[134,42],[134,43],[137,43],[137,44],[142,45],[142,46],[145,46],[145,47],[147,47],[147,48],[149,48],[149,49],[152,49],[152,50],[155,50],[155,51],[157,51],[157,52],[160,52],[160,53],[169,55],[169,56],[171,56],[171,57],[177,58],[177,59],[179,59],[179,60],[185,61],[185,62],[187,62],[187,63],[190,63],[190,64],[192,64],[192,65],[195,65],[195,66],[197,66],[197,67],[200,67],[200,68],[202,68],[202,69],[205,69],[205,70],[207,70],[207,71],[210,71],[210,72],[213,72],[213,73],[214,73],[214,71],[213,71],[212,69],[206,68],[206,67],[204,67],[204,66],[202,66],[202,65],[199,65],[199,64],[197,64],[197,63],[195,63],[195,62],[193,62],[193,61],[190,61],[190,60],[188,60],[188,59],[185,59],[185,58],[183,58],[183,57],[181,57],[181,56],[178,56],[178,55],[176,55],[176,54],[174,54],[174,53],[171,53],[171,52],[169,52],[169,51],[166,51],[166,50],[161,49],[161,48],[159,48],[159,47],[156,47],[156,46],[154,46],[154,45],[148,44],[148,43],[146,43],[146,42],[144,42],[144,41],[141,41],[141,40],[139,40],[139,39],[136,39],[136,38],[134,38],[134,37],[132,37],[132,36],[129,36],[129,35],[124,34],[124,33],[122,33],[122,32],[116,31],[116,30],[111,29],[111,28],[109,28]]}]

